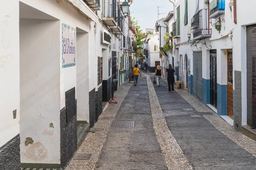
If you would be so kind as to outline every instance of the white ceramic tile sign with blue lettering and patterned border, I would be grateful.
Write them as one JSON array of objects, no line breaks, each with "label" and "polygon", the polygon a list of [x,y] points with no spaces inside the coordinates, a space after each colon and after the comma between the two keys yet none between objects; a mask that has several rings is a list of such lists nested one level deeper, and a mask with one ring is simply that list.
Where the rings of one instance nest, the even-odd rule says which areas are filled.
[{"label": "white ceramic tile sign with blue lettering and patterned border", "polygon": [[62,68],[76,65],[76,28],[62,24]]}]

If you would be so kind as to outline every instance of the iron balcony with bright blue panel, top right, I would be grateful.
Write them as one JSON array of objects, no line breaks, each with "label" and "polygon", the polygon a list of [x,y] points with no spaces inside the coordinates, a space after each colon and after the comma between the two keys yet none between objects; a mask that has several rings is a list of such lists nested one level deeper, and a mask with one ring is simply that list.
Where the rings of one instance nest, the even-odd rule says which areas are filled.
[{"label": "iron balcony with bright blue panel, top right", "polygon": [[212,0],[210,3],[210,18],[218,18],[225,14],[225,0]]}]

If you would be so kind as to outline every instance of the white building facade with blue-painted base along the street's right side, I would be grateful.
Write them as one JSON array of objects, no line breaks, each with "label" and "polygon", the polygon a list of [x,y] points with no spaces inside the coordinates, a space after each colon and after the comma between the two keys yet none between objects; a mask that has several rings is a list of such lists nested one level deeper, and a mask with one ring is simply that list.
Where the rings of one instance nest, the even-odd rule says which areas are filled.
[{"label": "white building facade with blue-painted base along the street's right side", "polygon": [[256,19],[250,17],[255,5],[253,0],[176,0],[173,24],[174,67],[183,88],[250,137],[256,126]]}]

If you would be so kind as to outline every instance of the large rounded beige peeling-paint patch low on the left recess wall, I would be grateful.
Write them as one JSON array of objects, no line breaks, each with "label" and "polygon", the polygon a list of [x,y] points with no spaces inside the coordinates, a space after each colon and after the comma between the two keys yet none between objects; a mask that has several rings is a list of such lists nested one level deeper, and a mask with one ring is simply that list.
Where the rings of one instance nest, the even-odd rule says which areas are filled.
[{"label": "large rounded beige peeling-paint patch low on the left recess wall", "polygon": [[42,161],[47,157],[47,149],[41,142],[36,142],[26,150],[25,156],[31,160]]}]

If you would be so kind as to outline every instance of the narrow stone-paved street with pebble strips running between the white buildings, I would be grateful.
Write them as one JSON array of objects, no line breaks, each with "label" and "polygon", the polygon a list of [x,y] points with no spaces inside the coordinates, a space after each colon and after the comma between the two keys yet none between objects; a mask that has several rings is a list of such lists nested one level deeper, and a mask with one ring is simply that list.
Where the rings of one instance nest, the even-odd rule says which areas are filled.
[{"label": "narrow stone-paved street with pebble strips running between the white buildings", "polygon": [[[255,141],[194,96],[168,94],[166,78],[160,87],[153,79],[144,73],[137,86],[119,87],[119,104],[109,104],[75,155],[91,154],[90,160],[73,159],[67,170],[255,170]],[[116,121],[123,122],[115,127]]]}]

